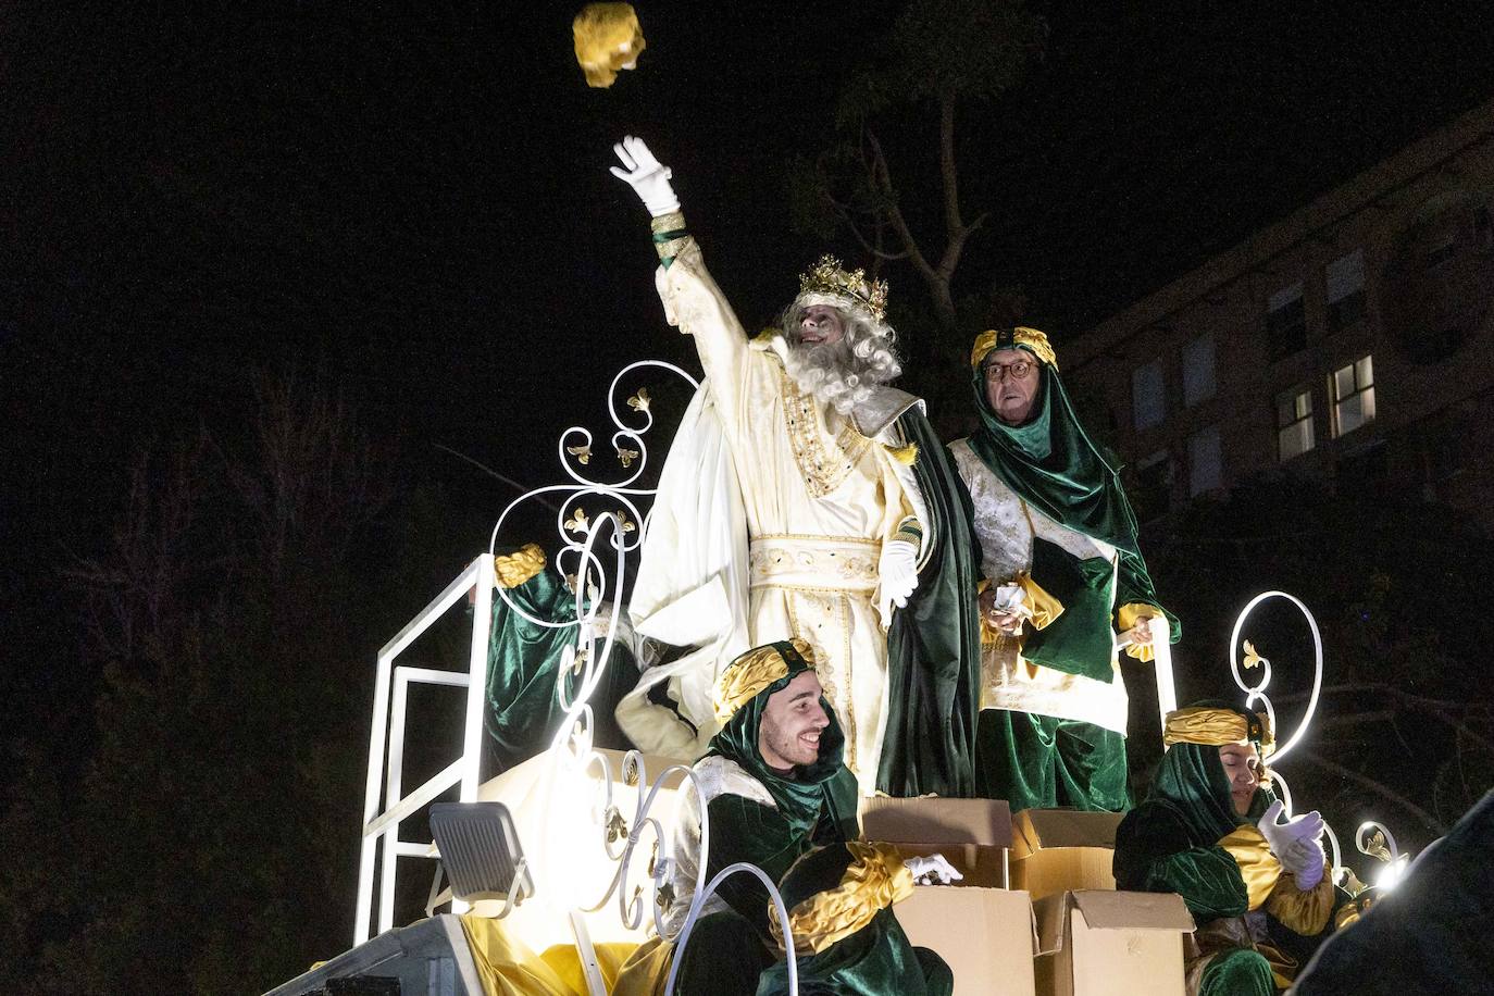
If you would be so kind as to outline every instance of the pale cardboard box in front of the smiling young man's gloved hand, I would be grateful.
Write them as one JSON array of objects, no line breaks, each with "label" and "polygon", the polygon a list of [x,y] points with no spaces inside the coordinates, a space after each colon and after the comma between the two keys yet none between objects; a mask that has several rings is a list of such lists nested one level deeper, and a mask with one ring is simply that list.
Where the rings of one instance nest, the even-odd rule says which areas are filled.
[{"label": "pale cardboard box in front of the smiling young man's gloved hand", "polygon": [[892,912],[908,941],[955,972],[955,996],[1034,996],[1032,902],[1005,888],[917,885]]}]

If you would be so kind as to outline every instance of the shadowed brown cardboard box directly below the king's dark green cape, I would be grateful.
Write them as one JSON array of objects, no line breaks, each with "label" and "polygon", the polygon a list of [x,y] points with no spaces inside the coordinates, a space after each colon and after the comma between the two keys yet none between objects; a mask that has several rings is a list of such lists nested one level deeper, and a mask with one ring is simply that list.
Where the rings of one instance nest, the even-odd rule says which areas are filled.
[{"label": "shadowed brown cardboard box directly below the king's dark green cape", "polygon": [[964,887],[1005,888],[1011,808],[999,799],[889,799],[861,803],[861,835],[895,844],[904,857],[943,854]]}]

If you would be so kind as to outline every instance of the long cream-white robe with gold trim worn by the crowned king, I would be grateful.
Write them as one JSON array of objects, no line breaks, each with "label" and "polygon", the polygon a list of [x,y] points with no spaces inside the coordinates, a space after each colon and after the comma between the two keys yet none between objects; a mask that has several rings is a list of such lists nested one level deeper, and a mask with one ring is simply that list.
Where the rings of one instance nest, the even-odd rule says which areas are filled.
[{"label": "long cream-white robe with gold trim worn by the crowned king", "polygon": [[[798,636],[820,662],[846,766],[871,794],[887,720],[886,630],[874,603],[881,544],[905,518],[926,521],[911,467],[890,452],[902,445],[896,415],[917,402],[889,388],[893,403],[868,426],[859,411],[846,418],[801,393],[783,340],[747,340],[693,243],[660,296],[695,337],[707,385],[660,478],[630,611],[639,633],[699,650],[645,672],[619,721],[647,751],[698,757],[717,729],[720,672],[748,647]],[[647,702],[657,681],[669,682],[693,738]]]}]

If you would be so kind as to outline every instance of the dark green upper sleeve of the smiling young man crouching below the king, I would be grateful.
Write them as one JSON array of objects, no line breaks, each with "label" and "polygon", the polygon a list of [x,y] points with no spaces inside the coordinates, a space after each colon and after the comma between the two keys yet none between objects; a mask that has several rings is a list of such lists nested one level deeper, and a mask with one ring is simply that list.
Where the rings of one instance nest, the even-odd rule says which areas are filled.
[{"label": "dark green upper sleeve of the smiling young man crouching below the king", "polygon": [[[729,865],[750,862],[777,883],[808,848],[808,841],[795,836],[789,821],[777,809],[744,796],[732,793],[716,796],[707,803],[705,811],[711,821],[707,880]],[[746,917],[765,939],[769,936],[768,890],[756,875],[738,872],[723,881],[716,894]]]}]

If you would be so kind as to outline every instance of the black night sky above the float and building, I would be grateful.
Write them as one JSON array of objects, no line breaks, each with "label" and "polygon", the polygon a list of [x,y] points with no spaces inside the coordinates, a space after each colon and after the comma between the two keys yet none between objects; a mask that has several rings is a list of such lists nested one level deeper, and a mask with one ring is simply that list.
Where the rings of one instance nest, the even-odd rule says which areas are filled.
[{"label": "black night sky above the float and building", "polygon": [[[55,666],[57,570],[99,550],[127,455],[241,418],[249,366],[324,363],[375,426],[553,479],[574,399],[689,357],[611,142],[674,167],[762,323],[822,249],[783,167],[899,7],[636,3],[639,69],[589,90],[580,4],[99,6],[0,15],[7,669]],[[1494,94],[1476,3],[1034,9],[1044,61],[961,116],[967,194],[995,211],[962,290],[1022,284],[1059,337]],[[932,131],[905,124],[911,160]]]}]

